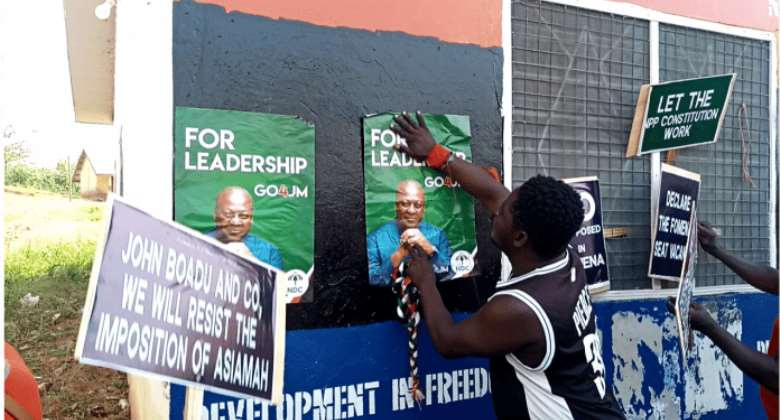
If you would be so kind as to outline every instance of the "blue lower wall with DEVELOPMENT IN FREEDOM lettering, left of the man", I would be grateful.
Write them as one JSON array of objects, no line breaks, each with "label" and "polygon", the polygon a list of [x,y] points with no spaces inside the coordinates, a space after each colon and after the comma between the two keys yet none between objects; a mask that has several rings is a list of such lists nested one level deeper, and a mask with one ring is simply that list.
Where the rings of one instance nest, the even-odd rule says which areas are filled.
[{"label": "blue lower wall with DEVELOPMENT IN FREEDOM lettering, left of the man", "polygon": [[[462,318],[462,317],[461,317]],[[372,388],[376,418],[489,418],[492,406],[488,393],[489,380],[487,360],[465,358],[445,360],[433,348],[427,330],[421,330],[420,369],[421,381],[429,394],[421,410],[417,406],[407,406],[394,395],[401,392],[400,380],[409,373],[406,352],[407,334],[399,322],[381,322],[377,324],[317,330],[291,331],[287,334],[287,355],[285,359],[286,404],[279,416],[271,412],[263,415],[264,407],[258,403],[256,413],[247,415],[247,402],[243,403],[243,412],[230,416],[229,405],[238,408],[238,401],[207,392],[204,407],[208,410],[208,419],[331,419],[352,418],[349,390],[341,391],[345,403],[328,404],[325,409],[312,407],[302,409],[305,404],[303,391],[312,395],[327,395],[327,388],[352,386],[358,392],[363,384],[363,415],[371,414],[370,401]],[[439,375],[441,374],[441,375]],[[404,378],[404,379],[401,379]],[[394,386],[393,381],[396,381]],[[430,381],[430,382],[429,382]],[[378,382],[378,383],[376,383]],[[368,384],[368,385],[366,385]],[[375,387],[375,388],[374,388]],[[396,391],[397,390],[397,391]],[[298,395],[296,395],[298,393]],[[480,398],[481,396],[481,398]],[[184,404],[184,388],[172,386],[171,418],[180,419]],[[351,402],[354,402],[353,398]],[[217,405],[212,406],[213,403]],[[219,406],[220,402],[231,402]],[[296,404],[299,404],[296,406]],[[328,409],[333,410],[328,415]],[[395,410],[394,410],[395,409]],[[335,412],[341,414],[335,415]],[[174,414],[176,413],[176,414]],[[204,412],[205,414],[205,412]],[[215,417],[216,414],[216,417]],[[356,414],[356,413],[355,413]],[[270,415],[270,416],[269,416]],[[319,417],[321,416],[321,417]],[[360,417],[360,416],[355,416]]]}]

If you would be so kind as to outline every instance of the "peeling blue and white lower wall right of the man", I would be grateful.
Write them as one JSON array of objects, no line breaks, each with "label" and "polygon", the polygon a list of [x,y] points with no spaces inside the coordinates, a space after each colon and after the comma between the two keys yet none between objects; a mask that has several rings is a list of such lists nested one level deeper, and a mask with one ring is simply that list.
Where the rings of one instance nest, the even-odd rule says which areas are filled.
[{"label": "peeling blue and white lower wall right of the man", "polygon": [[[695,300],[753,349],[769,339],[777,317],[777,297],[762,293]],[[763,418],[756,382],[708,338],[695,333],[691,359],[683,365],[665,300],[604,302],[596,311],[607,378],[628,418]]]}]

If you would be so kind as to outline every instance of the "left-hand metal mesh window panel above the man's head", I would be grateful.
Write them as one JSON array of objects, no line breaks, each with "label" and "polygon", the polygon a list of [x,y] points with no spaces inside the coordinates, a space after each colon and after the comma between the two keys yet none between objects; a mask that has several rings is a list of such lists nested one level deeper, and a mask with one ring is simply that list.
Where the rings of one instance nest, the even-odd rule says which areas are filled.
[{"label": "left-hand metal mesh window panel above the man's head", "polygon": [[650,80],[649,21],[512,1],[512,183],[597,175],[613,289],[649,288],[648,159],[624,158],[636,93]]}]

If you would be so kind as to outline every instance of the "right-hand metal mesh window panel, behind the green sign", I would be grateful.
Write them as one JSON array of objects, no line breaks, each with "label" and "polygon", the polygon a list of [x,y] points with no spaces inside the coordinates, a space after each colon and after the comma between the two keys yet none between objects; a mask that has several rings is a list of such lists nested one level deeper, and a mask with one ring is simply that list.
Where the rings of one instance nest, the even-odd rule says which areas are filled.
[{"label": "right-hand metal mesh window panel, behind the green sign", "polygon": [[[660,24],[660,81],[737,73],[717,143],[682,149],[674,164],[702,175],[699,217],[722,231],[719,243],[748,261],[770,263],[770,57],[768,41]],[[753,186],[742,179],[742,120],[749,140]],[[746,148],[747,149],[747,148]],[[700,253],[697,285],[743,281],[715,258]]]}]

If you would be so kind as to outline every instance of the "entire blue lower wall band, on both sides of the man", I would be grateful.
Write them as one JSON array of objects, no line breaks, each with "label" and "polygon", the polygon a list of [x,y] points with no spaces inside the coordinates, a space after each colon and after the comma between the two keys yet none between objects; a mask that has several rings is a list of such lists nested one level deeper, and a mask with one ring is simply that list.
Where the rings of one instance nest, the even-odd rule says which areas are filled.
[{"label": "entire blue lower wall band, on both sides of the man", "polygon": [[[751,348],[769,339],[777,317],[777,298],[765,294],[726,294],[697,301]],[[674,319],[664,300],[600,302],[595,310],[607,378],[629,418],[762,418],[758,385],[743,376],[709,339],[696,335],[693,359],[683,369]],[[486,360],[441,358],[425,328],[420,341],[421,376],[431,380],[426,384],[423,379],[423,385],[431,389],[426,389],[430,395],[422,409],[399,401],[399,380],[408,374],[406,331],[391,321],[289,332],[283,411],[277,414],[260,402],[255,405],[206,393],[204,418],[493,418],[489,388],[484,383]],[[346,388],[349,386],[351,389]],[[475,393],[475,389],[480,392]],[[172,386],[172,419],[181,418],[184,393],[183,387]],[[316,394],[327,397],[328,393],[341,394],[340,403],[335,402],[337,398],[321,407],[307,403]],[[253,414],[247,413],[250,404]],[[361,405],[363,414],[359,416]]]}]

